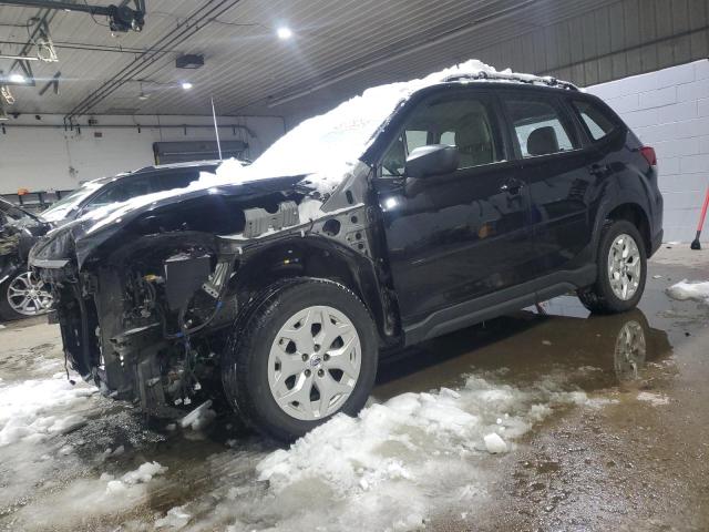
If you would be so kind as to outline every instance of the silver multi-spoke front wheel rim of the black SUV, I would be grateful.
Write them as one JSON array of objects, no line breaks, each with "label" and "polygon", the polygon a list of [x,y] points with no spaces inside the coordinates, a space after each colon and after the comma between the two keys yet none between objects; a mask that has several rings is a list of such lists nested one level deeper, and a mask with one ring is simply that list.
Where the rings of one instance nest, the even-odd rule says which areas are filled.
[{"label": "silver multi-spoke front wheel rim of the black SUV", "polygon": [[332,307],[308,307],[278,330],[268,355],[268,386],[288,416],[315,421],[345,405],[357,386],[361,360],[352,321]]}]

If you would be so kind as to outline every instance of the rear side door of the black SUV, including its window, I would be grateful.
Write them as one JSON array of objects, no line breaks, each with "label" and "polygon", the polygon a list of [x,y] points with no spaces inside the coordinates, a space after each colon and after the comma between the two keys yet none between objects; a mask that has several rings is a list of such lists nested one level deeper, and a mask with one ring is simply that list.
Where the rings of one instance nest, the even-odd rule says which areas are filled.
[{"label": "rear side door of the black SUV, including its window", "polygon": [[592,238],[597,180],[583,133],[551,91],[505,91],[501,98],[521,160],[518,177],[528,186],[536,275],[575,269]]}]

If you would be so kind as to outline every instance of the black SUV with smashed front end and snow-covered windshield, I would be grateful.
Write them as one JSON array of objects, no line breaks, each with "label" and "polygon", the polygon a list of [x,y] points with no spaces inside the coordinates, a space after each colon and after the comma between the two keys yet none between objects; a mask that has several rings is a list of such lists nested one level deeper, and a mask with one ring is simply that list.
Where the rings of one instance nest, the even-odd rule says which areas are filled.
[{"label": "black SUV with smashed front end and snow-covered windshield", "polygon": [[403,346],[571,290],[635,307],[662,237],[653,149],[568,83],[470,66],[38,244],[72,367],[152,415],[225,398],[291,440],[357,415]]}]

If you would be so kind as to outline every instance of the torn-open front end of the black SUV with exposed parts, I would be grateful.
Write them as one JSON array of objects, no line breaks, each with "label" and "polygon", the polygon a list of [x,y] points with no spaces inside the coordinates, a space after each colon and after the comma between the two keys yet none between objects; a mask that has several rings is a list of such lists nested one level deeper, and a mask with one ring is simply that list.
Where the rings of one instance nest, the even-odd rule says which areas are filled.
[{"label": "torn-open front end of the black SUV with exposed parts", "polygon": [[[52,287],[51,319],[72,369],[106,396],[173,417],[220,397],[220,354],[279,279],[336,275],[392,316],[363,192],[350,186],[340,204],[301,181],[192,192],[109,224],[78,221],[38,243],[30,265]],[[391,318],[380,323],[391,336]]]}]

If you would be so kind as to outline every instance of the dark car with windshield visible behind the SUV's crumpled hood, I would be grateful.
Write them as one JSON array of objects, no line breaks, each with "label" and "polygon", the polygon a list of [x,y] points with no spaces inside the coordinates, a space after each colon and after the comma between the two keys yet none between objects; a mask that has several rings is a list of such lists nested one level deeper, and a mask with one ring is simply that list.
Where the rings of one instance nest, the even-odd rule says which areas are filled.
[{"label": "dark car with windshield visible behind the SUV's crumpled hood", "polygon": [[146,166],[89,181],[42,212],[41,216],[52,224],[62,225],[106,205],[154,192],[184,188],[196,181],[201,172],[214,172],[218,165],[219,161],[198,161]]}]

